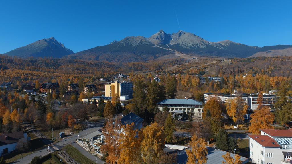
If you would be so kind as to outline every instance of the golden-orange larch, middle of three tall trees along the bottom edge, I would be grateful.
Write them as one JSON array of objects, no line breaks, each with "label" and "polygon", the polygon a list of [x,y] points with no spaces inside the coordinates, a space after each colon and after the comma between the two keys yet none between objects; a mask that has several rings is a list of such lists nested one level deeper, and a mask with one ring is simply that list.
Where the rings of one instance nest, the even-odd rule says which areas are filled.
[{"label": "golden-orange larch, middle of three tall trees along the bottom edge", "polygon": [[141,139],[138,139],[138,130],[134,130],[135,124],[123,125],[123,132],[119,137],[120,158],[118,164],[141,163]]}]

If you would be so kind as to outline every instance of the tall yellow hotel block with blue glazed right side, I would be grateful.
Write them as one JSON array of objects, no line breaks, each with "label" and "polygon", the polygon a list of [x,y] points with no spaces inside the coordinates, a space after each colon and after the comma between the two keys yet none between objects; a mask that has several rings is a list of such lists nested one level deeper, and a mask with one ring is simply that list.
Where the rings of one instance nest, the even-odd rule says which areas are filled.
[{"label": "tall yellow hotel block with blue glazed right side", "polygon": [[128,96],[133,98],[133,83],[132,82],[118,82],[109,83],[105,85],[105,96],[114,97],[116,94],[120,96]]}]

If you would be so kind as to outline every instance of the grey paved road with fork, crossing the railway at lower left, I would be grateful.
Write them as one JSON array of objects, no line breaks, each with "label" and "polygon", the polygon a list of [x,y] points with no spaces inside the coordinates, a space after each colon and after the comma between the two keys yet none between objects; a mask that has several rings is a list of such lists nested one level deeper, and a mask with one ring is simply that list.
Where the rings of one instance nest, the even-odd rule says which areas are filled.
[{"label": "grey paved road with fork, crossing the railway at lower left", "polygon": [[[85,129],[82,130],[80,133],[77,133],[77,134],[74,134],[72,136],[69,136],[69,137],[66,137],[65,140],[63,141],[60,141],[56,144],[54,144],[58,149],[61,149],[63,146],[66,146],[67,144],[73,144],[74,147],[79,150],[84,156],[86,156],[87,158],[93,160],[94,163],[96,163],[96,157],[93,156],[91,153],[85,151],[81,146],[79,146],[77,143],[76,143],[76,139],[79,138],[79,135],[81,137],[84,137],[88,134],[91,134],[93,132],[96,132],[98,129],[100,129],[102,126],[103,126],[103,120],[97,122],[97,123],[93,123],[93,122],[89,122],[89,121],[86,121],[84,124],[85,124]],[[63,142],[64,142],[64,145],[63,145]],[[78,146],[76,146],[78,145]],[[80,149],[81,148],[81,149]],[[45,156],[48,154],[48,151],[47,151],[48,148],[45,148],[43,150],[40,150],[40,151],[37,151],[37,152],[34,152],[28,156],[25,156],[23,157],[23,164],[28,164],[30,163],[30,161],[32,160],[32,158],[34,158],[35,156],[39,156],[39,157],[42,157],[42,156]],[[50,148],[50,152],[52,152],[53,149]],[[104,162],[99,160],[98,159],[98,164],[103,164]],[[16,160],[15,162],[13,162],[15,164],[22,164],[22,158],[20,158],[19,160]]]}]

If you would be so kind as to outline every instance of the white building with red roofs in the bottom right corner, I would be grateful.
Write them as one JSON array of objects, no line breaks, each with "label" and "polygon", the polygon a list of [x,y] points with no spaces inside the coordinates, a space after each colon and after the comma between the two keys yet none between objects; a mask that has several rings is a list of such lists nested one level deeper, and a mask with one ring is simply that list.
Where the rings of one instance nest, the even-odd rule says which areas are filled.
[{"label": "white building with red roofs in the bottom right corner", "polygon": [[260,131],[261,135],[248,135],[251,162],[257,164],[292,162],[292,129]]}]

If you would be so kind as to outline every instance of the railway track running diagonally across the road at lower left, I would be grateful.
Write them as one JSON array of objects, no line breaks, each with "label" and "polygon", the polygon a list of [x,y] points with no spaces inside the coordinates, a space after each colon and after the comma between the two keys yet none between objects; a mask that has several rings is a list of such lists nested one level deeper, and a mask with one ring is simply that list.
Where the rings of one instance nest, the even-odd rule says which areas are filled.
[{"label": "railway track running diagonally across the road at lower left", "polygon": [[30,129],[32,130],[32,132],[34,132],[36,135],[38,135],[39,137],[45,139],[45,142],[52,148],[55,149],[55,151],[57,151],[58,153],[60,153],[67,161],[67,163],[69,164],[79,164],[77,162],[75,162],[71,157],[69,157],[66,153],[64,153],[63,151],[59,150],[54,144],[52,144],[44,135],[42,135],[39,131],[37,131],[32,125],[28,124],[28,123],[24,123],[24,125],[26,126],[30,126]]}]

